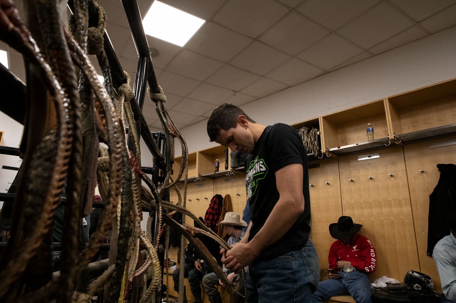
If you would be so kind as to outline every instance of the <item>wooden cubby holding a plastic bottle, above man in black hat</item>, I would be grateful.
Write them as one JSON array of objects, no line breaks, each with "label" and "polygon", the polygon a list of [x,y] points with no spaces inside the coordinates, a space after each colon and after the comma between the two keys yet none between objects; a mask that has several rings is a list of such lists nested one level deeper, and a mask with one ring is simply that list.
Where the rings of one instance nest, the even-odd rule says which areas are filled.
[{"label": "wooden cubby holding a plastic bottle, above man in black hat", "polygon": [[[389,124],[385,99],[354,106],[321,116],[323,151],[339,155],[389,144]],[[371,123],[374,138],[368,139],[366,128]]]}]

